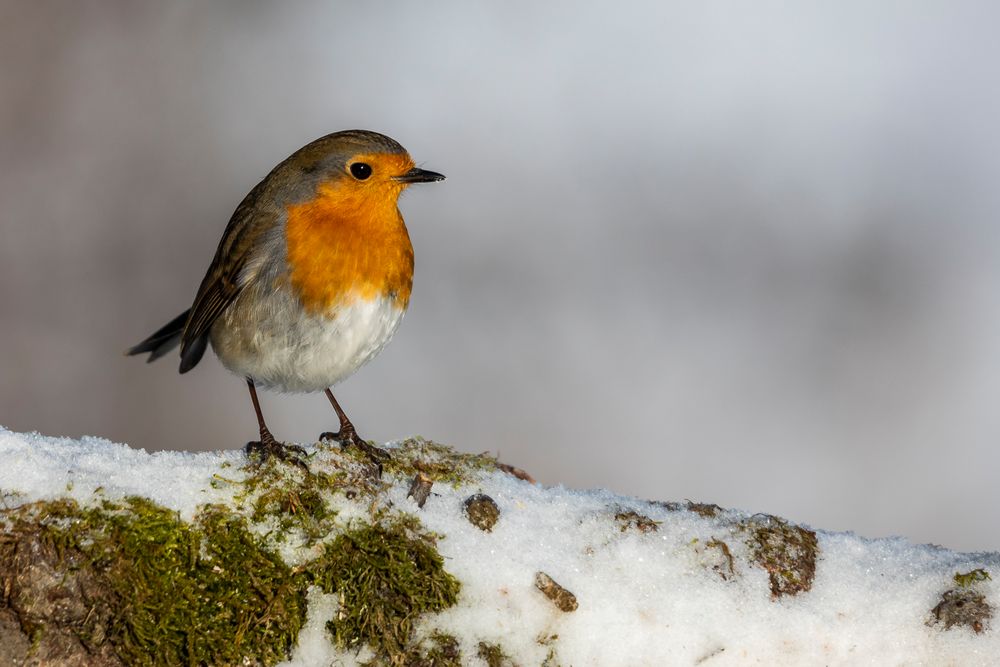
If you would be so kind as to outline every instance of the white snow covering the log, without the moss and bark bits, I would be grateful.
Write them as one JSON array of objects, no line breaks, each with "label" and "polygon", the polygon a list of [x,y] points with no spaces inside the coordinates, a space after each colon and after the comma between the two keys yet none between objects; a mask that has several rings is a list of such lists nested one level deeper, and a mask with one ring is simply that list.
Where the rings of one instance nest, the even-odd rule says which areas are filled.
[{"label": "white snow covering the log, without the moss and bark bits", "polygon": [[[100,438],[49,438],[0,429],[0,491],[7,505],[95,489],[115,499],[141,494],[190,518],[205,503],[226,502],[239,479],[239,451],[148,454]],[[393,480],[389,501],[416,513],[443,537],[446,569],[462,582],[459,603],[425,619],[423,634],[460,639],[468,664],[479,642],[497,643],[519,665],[994,665],[1000,621],[984,632],[928,624],[953,576],[983,568],[976,583],[1000,600],[1000,554],[961,554],[900,538],[870,540],[817,531],[819,559],[811,590],[774,598],[768,573],[752,564],[740,522],[604,490],[532,485],[501,472],[453,488],[435,484],[423,509]],[[473,526],[463,503],[489,495],[500,508],[492,532]],[[634,510],[656,530],[622,531],[615,514]],[[984,530],[990,530],[984,527]],[[726,542],[735,573],[713,568],[713,539]],[[563,612],[535,587],[544,572],[576,596]],[[366,651],[339,652],[326,621],[336,596],[311,591],[309,617],[287,665],[356,665]]]}]

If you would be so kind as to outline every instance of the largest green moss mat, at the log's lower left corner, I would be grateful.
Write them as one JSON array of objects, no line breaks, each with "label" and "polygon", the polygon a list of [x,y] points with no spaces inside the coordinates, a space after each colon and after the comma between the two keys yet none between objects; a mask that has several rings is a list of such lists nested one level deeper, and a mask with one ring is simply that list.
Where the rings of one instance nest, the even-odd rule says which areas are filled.
[{"label": "largest green moss mat, at the log's lower left corner", "polygon": [[[30,565],[18,545],[40,542],[50,567],[87,582],[84,602],[99,610],[100,624],[75,628],[80,641],[109,644],[125,664],[273,664],[304,621],[301,576],[223,508],[205,508],[193,524],[143,498],[94,508],[57,500],[4,514],[14,539],[0,550],[0,568]],[[32,636],[44,630],[36,621]]]}]

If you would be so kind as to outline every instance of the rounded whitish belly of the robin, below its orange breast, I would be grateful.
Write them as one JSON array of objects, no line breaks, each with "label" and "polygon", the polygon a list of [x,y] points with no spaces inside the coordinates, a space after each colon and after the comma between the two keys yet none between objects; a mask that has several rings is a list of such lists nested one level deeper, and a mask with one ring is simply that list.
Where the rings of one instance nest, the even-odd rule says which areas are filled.
[{"label": "rounded whitish belly of the robin, below its orange breast", "polygon": [[276,301],[284,303],[251,313],[227,309],[211,340],[230,371],[285,392],[322,391],[345,379],[385,347],[405,312],[389,297],[359,299],[330,315]]}]

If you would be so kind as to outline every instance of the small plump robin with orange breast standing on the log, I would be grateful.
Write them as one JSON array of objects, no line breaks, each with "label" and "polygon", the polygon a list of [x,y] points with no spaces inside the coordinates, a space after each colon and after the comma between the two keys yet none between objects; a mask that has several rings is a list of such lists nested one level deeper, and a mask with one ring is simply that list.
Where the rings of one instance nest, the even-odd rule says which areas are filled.
[{"label": "small plump robin with orange breast standing on the log", "polygon": [[264,423],[257,387],[326,392],[340,419],[333,439],[378,462],[330,387],[378,354],[399,326],[413,285],[413,246],[397,207],[412,183],[444,176],[417,167],[393,139],[347,130],[303,146],[236,208],[191,308],[127,354],[154,361],[180,345],[180,372],[209,343],[246,378],[260,440],[248,453],[301,464],[300,447]]}]

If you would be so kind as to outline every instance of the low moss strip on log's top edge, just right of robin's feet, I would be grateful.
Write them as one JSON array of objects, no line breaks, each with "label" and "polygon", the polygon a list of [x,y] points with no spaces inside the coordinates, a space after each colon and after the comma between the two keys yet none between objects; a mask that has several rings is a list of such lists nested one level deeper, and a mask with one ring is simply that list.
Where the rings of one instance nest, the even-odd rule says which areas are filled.
[{"label": "low moss strip on log's top edge, just right of robin's feet", "polygon": [[487,454],[464,454],[424,438],[410,438],[389,450],[386,474],[412,479],[422,472],[437,484],[458,487],[474,480],[480,472],[497,469],[497,461]]}]

